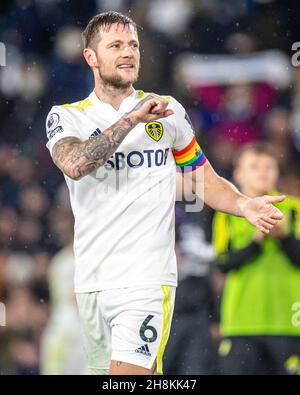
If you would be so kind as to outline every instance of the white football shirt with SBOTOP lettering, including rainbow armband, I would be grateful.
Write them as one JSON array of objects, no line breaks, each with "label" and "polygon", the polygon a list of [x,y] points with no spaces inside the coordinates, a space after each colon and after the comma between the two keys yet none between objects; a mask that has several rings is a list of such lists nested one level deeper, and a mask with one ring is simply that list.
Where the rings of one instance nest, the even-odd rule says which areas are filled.
[{"label": "white football shirt with SBOTOP lettering, including rainbow armband", "polygon": [[[101,134],[141,99],[135,90],[116,111],[92,92],[52,107],[46,121],[52,153],[69,136]],[[176,163],[194,170],[205,162],[184,108],[140,123],[104,166],[75,181],[65,175],[75,217],[75,292],[145,285],[177,285],[174,203]]]}]

